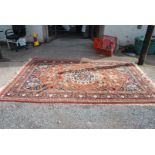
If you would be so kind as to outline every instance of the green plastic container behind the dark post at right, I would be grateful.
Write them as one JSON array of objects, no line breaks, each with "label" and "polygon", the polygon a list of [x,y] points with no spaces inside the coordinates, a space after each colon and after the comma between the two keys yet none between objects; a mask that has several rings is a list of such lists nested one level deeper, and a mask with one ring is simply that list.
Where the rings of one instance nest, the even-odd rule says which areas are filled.
[{"label": "green plastic container behind the dark post at right", "polygon": [[[135,39],[135,50],[137,54],[140,54],[142,46],[143,46],[144,36],[137,37]],[[148,54],[155,54],[155,38],[152,37],[150,47],[148,50]]]}]

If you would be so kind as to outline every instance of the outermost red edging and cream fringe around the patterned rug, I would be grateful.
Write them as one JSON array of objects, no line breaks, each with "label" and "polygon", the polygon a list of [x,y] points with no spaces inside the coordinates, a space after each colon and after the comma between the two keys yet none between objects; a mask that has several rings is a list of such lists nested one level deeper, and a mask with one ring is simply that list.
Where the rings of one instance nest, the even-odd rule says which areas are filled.
[{"label": "outermost red edging and cream fringe around the patterned rug", "polygon": [[[8,87],[10,86],[10,84],[11,83],[13,83],[13,82],[15,82],[18,78],[19,78],[19,76],[25,71],[25,69],[26,69],[26,67],[30,64],[30,63],[32,63],[33,61],[35,61],[35,60],[47,60],[47,61],[52,61],[52,60],[57,60],[57,61],[79,61],[79,62],[100,62],[99,60],[92,60],[92,59],[90,59],[90,60],[88,60],[88,61],[82,61],[82,60],[80,60],[80,59],[57,59],[57,58],[55,58],[55,59],[50,59],[50,58],[40,58],[40,57],[34,57],[34,58],[30,58],[27,62],[25,62],[24,64],[23,64],[23,66],[19,69],[19,71],[17,71],[17,74],[15,75],[15,77],[14,78],[12,78],[11,80],[9,80],[9,82],[7,83],[7,84],[5,84],[4,86],[2,86],[1,88],[0,88],[0,96],[8,89]],[[109,60],[102,60],[102,61],[109,61]],[[125,62],[125,61],[115,61],[115,60],[110,60],[111,62],[122,62],[122,63],[130,63],[130,64],[133,64],[134,65],[134,67],[136,67],[136,69],[139,71],[139,73],[141,74],[141,75],[143,75],[144,77],[145,77],[145,79],[146,79],[146,81],[148,81],[149,82],[149,85],[152,87],[152,88],[154,88],[155,87],[155,83],[153,83],[153,81],[147,76],[147,74],[146,73],[144,73],[144,71],[139,67],[139,66],[137,66],[137,64],[135,64],[134,62]],[[57,103],[60,103],[60,104],[134,104],[134,105],[136,105],[136,104],[146,104],[146,105],[150,105],[150,104],[153,104],[154,105],[154,103],[155,103],[155,101],[149,101],[149,99],[148,99],[148,101],[139,101],[139,102],[117,102],[117,101],[115,101],[115,102],[87,102],[87,101],[80,101],[80,102],[76,102],[76,101],[39,101],[39,99],[38,99],[38,101],[37,101],[37,99],[30,99],[30,100],[26,100],[26,99],[21,99],[21,100],[16,100],[16,99],[12,99],[12,100],[9,100],[9,99],[1,99],[0,98],[0,101],[2,101],[2,102],[20,102],[20,103],[24,103],[24,102],[26,102],[26,103],[39,103],[39,104],[57,104]]]}]

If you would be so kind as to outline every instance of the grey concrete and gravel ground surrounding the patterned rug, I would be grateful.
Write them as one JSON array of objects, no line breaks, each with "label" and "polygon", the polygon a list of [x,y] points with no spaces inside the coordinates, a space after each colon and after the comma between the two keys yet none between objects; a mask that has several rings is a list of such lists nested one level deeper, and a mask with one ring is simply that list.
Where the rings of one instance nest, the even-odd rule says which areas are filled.
[{"label": "grey concrete and gravel ground surrounding the patterned rug", "polygon": [[[117,52],[105,58],[96,54],[88,39],[57,39],[18,53],[3,47],[11,62],[0,62],[0,87],[7,84],[32,57],[110,59],[137,62]],[[140,67],[155,83],[155,55]],[[0,128],[155,128],[155,105],[80,105],[0,103]]]}]

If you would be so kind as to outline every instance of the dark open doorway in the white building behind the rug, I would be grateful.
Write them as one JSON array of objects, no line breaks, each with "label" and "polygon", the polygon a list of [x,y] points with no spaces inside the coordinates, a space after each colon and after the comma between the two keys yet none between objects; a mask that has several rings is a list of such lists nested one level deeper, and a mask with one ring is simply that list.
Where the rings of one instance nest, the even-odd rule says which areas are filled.
[{"label": "dark open doorway in the white building behind the rug", "polygon": [[45,27],[48,41],[56,38],[93,39],[104,33],[104,25],[47,25]]}]

